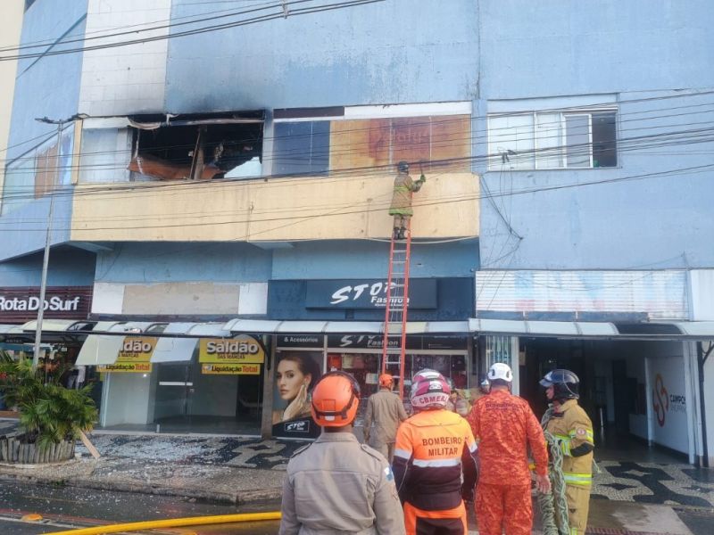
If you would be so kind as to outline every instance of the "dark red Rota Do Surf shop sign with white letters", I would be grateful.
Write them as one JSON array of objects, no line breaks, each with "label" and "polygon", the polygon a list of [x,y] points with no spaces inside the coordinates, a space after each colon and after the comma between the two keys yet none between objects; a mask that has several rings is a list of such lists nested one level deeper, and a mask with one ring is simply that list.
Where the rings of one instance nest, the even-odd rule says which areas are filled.
[{"label": "dark red Rota Do Surf shop sign with white letters", "polygon": [[[83,319],[92,305],[91,286],[51,286],[46,289],[45,317]],[[37,317],[39,288],[18,286],[0,288],[0,322],[29,321]]]}]

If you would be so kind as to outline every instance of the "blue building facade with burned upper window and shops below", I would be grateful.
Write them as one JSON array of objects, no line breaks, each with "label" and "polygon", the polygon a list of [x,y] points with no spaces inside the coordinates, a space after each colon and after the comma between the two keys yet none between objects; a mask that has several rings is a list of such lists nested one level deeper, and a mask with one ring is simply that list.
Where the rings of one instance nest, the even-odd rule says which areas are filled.
[{"label": "blue building facade with burned upper window and shops below", "polygon": [[409,161],[410,371],[468,388],[505,360],[538,407],[569,366],[603,424],[709,460],[704,0],[61,4],[25,13],[0,287],[37,295],[49,235],[48,288],[91,291],[47,314],[90,320],[65,345],[102,372],[102,424],[279,426],[291,359],[308,390],[374,389]]}]

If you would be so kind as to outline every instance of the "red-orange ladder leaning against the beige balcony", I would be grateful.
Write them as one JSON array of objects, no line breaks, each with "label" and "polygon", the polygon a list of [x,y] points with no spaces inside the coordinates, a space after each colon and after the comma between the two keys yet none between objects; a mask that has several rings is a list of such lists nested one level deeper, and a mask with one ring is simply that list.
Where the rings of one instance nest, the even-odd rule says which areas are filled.
[{"label": "red-orange ladder leaning against the beige balcony", "polygon": [[398,366],[399,396],[404,394],[404,352],[409,307],[409,261],[411,218],[407,219],[405,239],[394,239],[389,246],[389,272],[386,278],[385,333],[382,343],[382,373],[394,374]]}]

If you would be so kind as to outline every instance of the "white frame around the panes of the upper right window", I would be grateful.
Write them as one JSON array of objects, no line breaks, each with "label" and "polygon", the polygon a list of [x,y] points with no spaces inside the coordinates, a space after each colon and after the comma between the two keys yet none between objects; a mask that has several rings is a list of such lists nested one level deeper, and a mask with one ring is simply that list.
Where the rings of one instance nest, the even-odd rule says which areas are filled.
[{"label": "white frame around the panes of the upper right window", "polygon": [[[549,148],[547,145],[543,146],[542,142],[546,137],[538,136],[538,116],[539,115],[552,115],[558,114],[560,116],[558,122],[558,132],[561,142],[557,147],[560,149],[558,151],[558,156],[562,165],[560,167],[544,166],[539,165],[539,161],[536,157],[537,153],[541,150]],[[615,156],[616,165],[608,167],[594,167],[594,140],[593,140],[593,115],[599,113],[614,113],[614,127],[615,127]],[[567,139],[567,117],[587,117],[587,144],[590,147],[588,154],[588,165],[585,167],[573,167],[568,165],[568,144]],[[511,169],[514,171],[554,171],[554,170],[586,170],[586,169],[618,169],[619,168],[619,109],[616,106],[597,106],[597,107],[587,107],[587,108],[573,108],[573,109],[561,109],[561,110],[539,110],[539,111],[518,111],[518,112],[500,112],[500,113],[489,113],[486,115],[486,158],[488,164],[486,166],[487,171],[498,171],[502,169],[501,153],[491,153],[488,152],[492,144],[492,136],[495,130],[492,128],[492,120],[500,119],[504,117],[530,117],[530,132],[531,139],[533,140],[532,154],[529,157],[530,167],[518,167],[516,169]]]}]

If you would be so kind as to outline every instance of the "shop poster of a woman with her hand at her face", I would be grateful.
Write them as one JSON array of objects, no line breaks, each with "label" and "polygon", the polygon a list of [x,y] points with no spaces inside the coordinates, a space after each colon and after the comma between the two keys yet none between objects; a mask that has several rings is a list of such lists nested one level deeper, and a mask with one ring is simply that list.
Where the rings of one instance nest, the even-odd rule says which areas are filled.
[{"label": "shop poster of a woman with her hand at her face", "polygon": [[320,351],[278,351],[273,391],[273,436],[315,438],[320,427],[312,420],[312,388],[322,374]]}]

